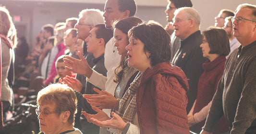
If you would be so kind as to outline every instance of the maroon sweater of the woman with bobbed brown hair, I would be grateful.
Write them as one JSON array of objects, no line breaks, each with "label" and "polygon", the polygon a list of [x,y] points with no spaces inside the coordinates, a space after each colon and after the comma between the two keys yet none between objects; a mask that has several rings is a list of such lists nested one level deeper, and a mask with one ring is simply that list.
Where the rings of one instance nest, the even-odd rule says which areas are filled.
[{"label": "maroon sweater of the woman with bobbed brown hair", "polygon": [[[213,61],[210,62],[210,60],[207,60],[203,64],[204,73],[201,75],[198,81],[197,98],[193,115],[196,112],[201,111],[212,100],[213,95],[216,92],[219,79],[223,74],[226,60],[227,59],[225,56],[219,56]],[[197,123],[191,127],[190,130],[195,133],[200,133],[204,124],[205,121]],[[214,134],[225,133],[229,130],[225,120],[221,121],[215,128]]]}]

